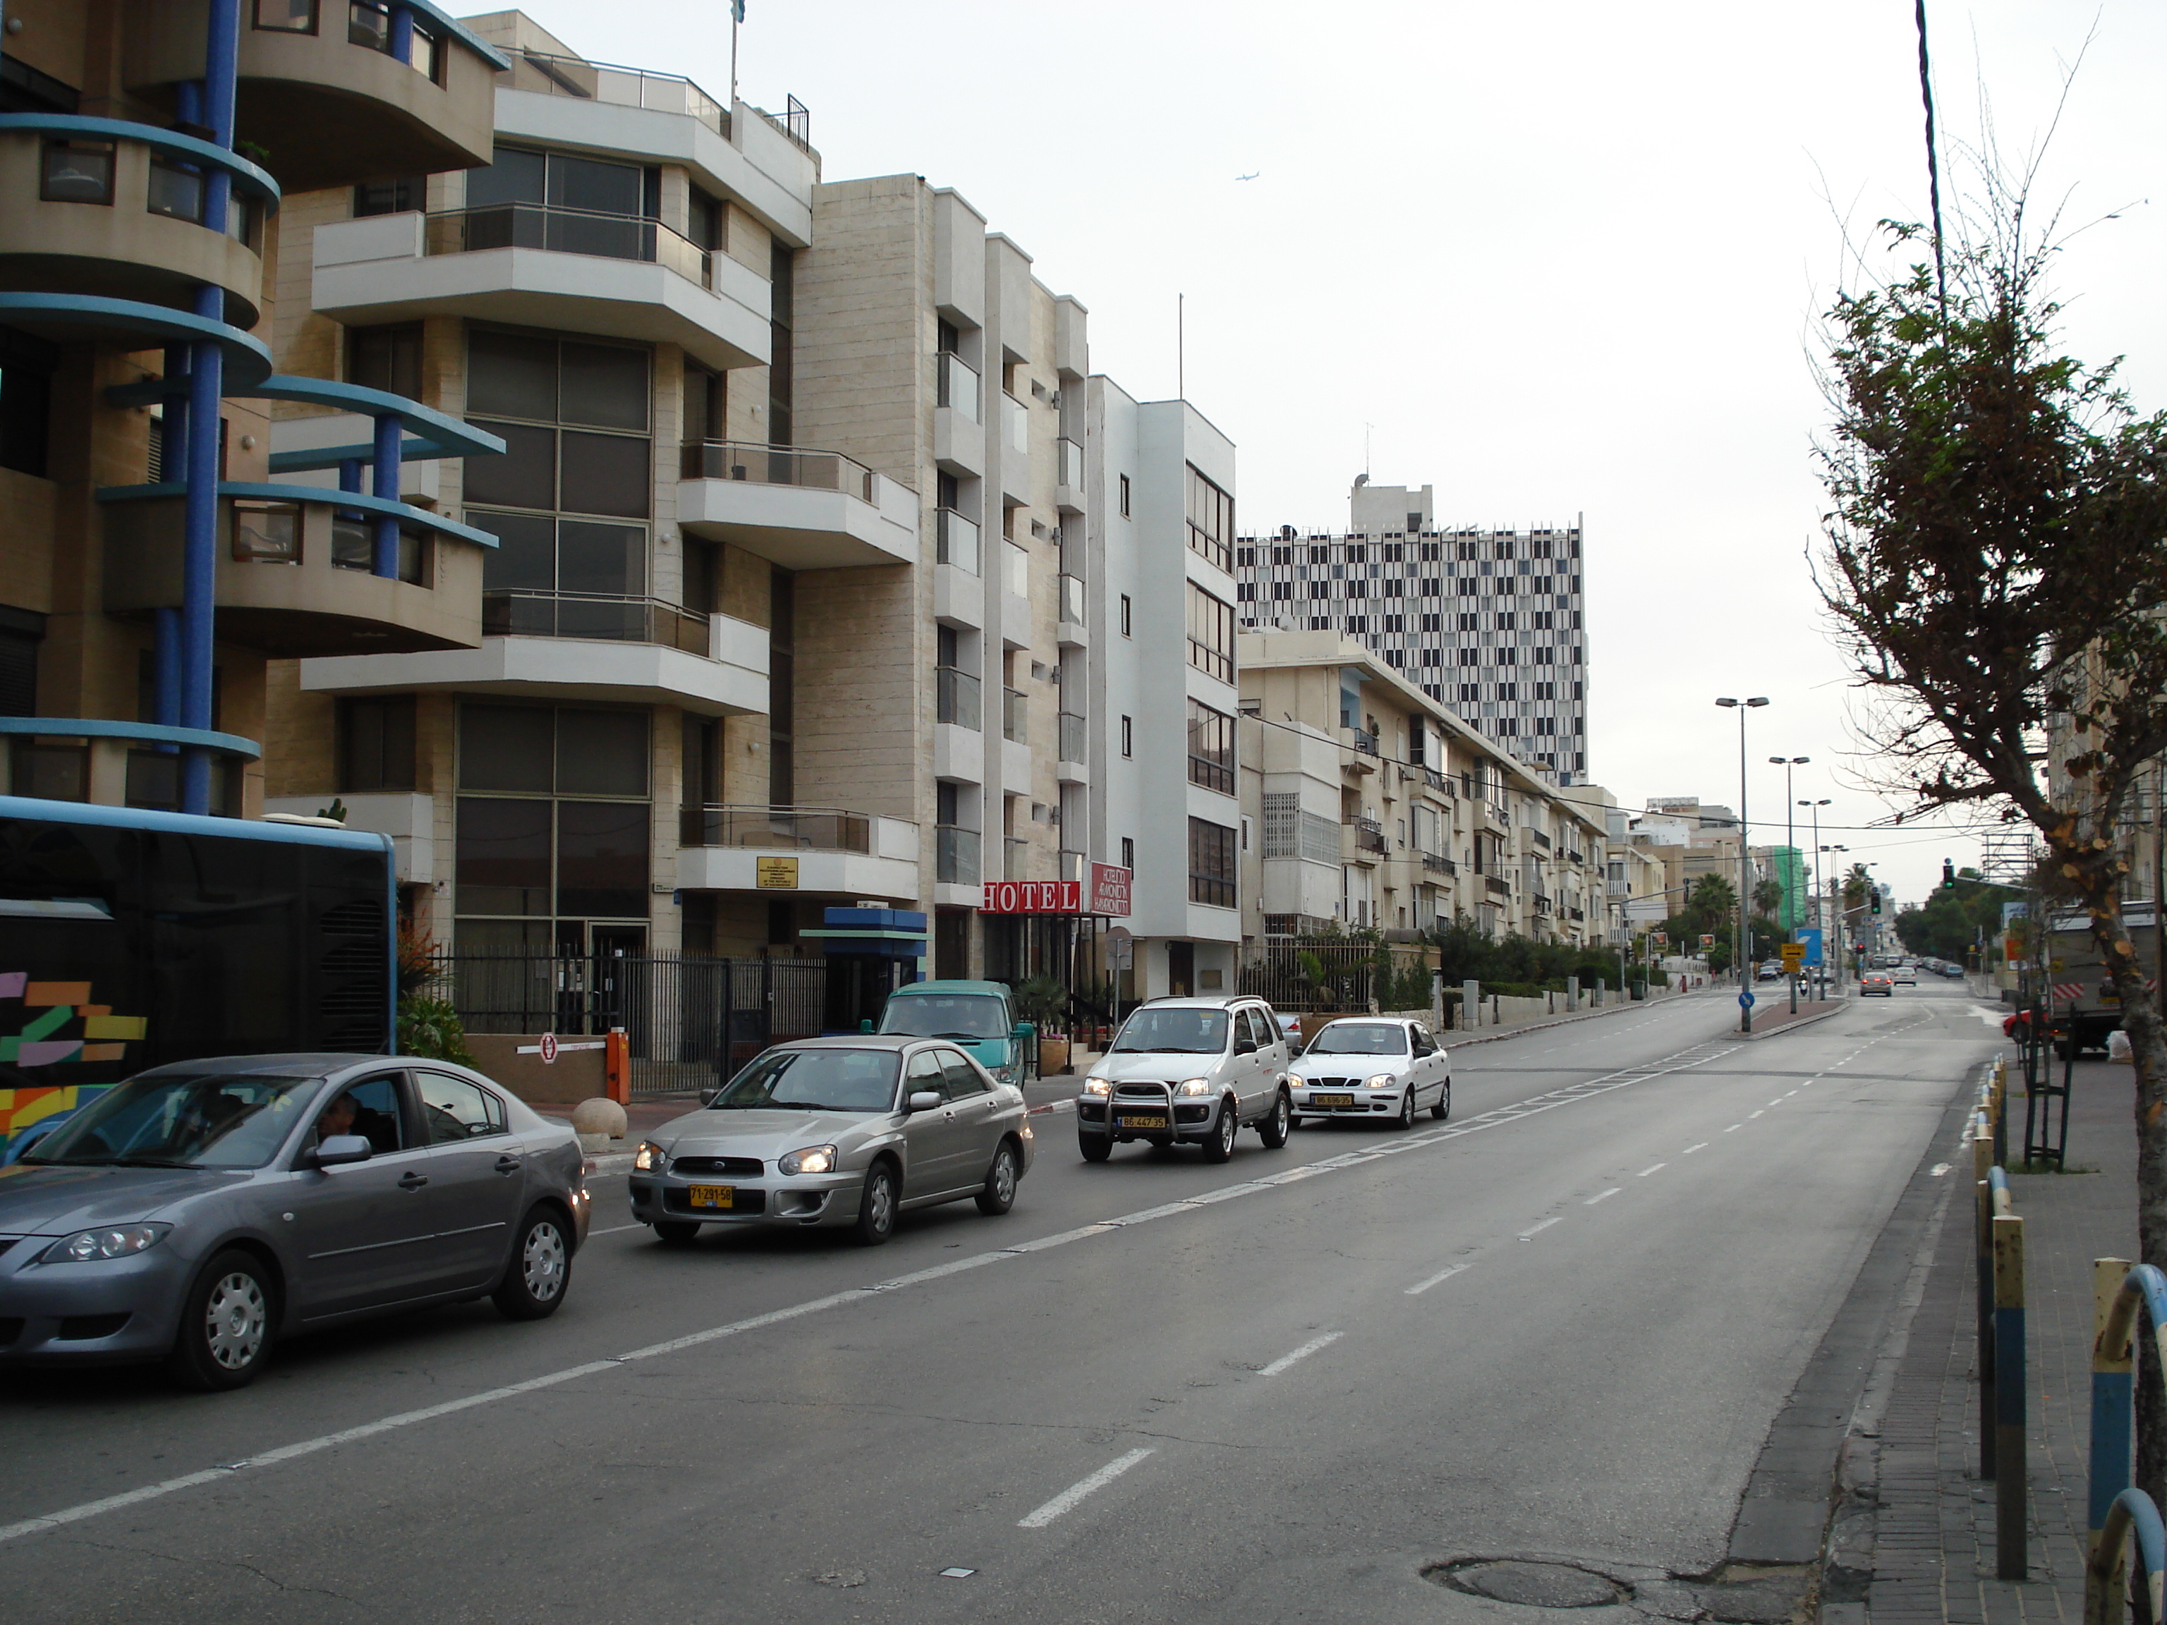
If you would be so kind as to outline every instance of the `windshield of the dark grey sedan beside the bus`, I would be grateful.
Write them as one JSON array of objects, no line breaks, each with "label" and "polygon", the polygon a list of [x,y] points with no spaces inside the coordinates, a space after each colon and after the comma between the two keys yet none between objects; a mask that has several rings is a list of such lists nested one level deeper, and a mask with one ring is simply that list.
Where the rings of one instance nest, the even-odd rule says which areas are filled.
[{"label": "windshield of the dark grey sedan beside the bus", "polygon": [[24,1161],[262,1168],[303,1118],[319,1077],[145,1072],[54,1129]]}]

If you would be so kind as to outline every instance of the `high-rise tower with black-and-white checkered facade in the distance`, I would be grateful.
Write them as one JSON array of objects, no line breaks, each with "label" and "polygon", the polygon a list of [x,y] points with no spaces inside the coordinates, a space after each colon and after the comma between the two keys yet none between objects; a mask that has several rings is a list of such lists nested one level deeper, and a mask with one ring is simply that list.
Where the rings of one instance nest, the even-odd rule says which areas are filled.
[{"label": "high-rise tower with black-and-white checkered facade in the distance", "polygon": [[1582,526],[1439,526],[1432,487],[1350,492],[1344,535],[1246,535],[1242,630],[1344,633],[1554,784],[1588,780]]}]

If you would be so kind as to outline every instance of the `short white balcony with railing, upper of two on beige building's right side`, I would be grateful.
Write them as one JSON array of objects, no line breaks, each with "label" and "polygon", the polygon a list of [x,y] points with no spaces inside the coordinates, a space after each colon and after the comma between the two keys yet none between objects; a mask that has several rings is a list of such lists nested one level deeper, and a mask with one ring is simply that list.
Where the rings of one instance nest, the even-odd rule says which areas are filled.
[{"label": "short white balcony with railing, upper of two on beige building's right side", "polygon": [[839,451],[696,440],[680,453],[678,524],[784,570],[914,563],[919,498]]}]

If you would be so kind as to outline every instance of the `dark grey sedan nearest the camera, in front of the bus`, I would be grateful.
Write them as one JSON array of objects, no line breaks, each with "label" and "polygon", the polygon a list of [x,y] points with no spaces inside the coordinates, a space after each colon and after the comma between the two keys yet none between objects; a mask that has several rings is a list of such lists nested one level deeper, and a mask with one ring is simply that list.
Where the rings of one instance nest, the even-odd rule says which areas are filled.
[{"label": "dark grey sedan nearest the camera, in front of the bus", "polygon": [[585,1157],[490,1079],[386,1055],[176,1062],[0,1168],[0,1363],[251,1380],[277,1337],[494,1296],[557,1311]]}]

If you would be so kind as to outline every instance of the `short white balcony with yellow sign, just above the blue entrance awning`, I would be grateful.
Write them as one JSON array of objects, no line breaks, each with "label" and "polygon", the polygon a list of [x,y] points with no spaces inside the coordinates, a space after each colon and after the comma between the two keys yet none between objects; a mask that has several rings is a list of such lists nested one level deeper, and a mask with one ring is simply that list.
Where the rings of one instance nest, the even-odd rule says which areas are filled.
[{"label": "short white balcony with yellow sign, just above the blue entrance awning", "polygon": [[[789,856],[778,873],[761,860]],[[789,875],[793,886],[778,886]],[[678,812],[685,890],[802,890],[843,897],[919,895],[919,826],[834,806],[687,806]],[[765,884],[763,884],[765,882]]]}]

